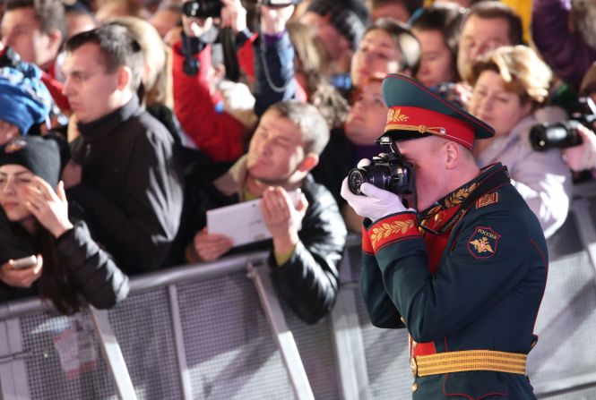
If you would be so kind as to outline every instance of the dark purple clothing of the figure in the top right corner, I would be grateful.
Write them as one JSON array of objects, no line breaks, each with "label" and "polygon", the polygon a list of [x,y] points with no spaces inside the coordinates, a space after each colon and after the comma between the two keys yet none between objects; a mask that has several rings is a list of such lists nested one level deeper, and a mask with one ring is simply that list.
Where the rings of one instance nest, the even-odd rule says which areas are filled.
[{"label": "dark purple clothing of the figure in the top right corner", "polygon": [[[596,0],[533,0],[531,36],[547,64],[577,90],[596,61]],[[571,23],[569,23],[571,22]]]}]

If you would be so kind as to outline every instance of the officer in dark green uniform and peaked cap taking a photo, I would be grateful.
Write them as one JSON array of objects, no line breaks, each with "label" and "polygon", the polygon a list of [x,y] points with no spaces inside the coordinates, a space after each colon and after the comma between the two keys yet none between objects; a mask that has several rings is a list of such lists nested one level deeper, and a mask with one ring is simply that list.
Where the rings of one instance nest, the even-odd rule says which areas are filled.
[{"label": "officer in dark green uniform and peaked cap taking a photo", "polygon": [[[479,168],[494,130],[418,81],[388,75],[382,137],[413,166],[415,191],[344,180],[366,217],[361,290],[379,328],[407,328],[414,399],[533,399],[526,356],[544,294],[547,245],[505,166]],[[413,208],[407,209],[404,202]]]}]

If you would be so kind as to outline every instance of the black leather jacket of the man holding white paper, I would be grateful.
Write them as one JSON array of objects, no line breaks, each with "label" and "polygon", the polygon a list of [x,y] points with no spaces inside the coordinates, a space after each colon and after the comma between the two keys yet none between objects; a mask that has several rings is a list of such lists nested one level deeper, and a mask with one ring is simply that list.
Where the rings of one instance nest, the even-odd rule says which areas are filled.
[{"label": "black leather jacket of the man holding white paper", "polygon": [[[241,159],[238,163],[242,163]],[[194,166],[186,176],[186,206],[180,243],[190,243],[194,234],[206,225],[205,212],[238,203],[238,191],[226,195],[213,184],[213,177],[227,171],[229,164]],[[225,174],[225,173],[224,173]],[[229,174],[229,172],[227,173]],[[243,182],[243,181],[239,181]],[[238,189],[241,186],[238,185]],[[296,250],[283,265],[278,266],[270,253],[272,280],[281,297],[298,317],[307,323],[331,311],[339,291],[341,253],[347,230],[332,194],[308,175],[302,185],[308,208],[298,232]],[[266,240],[234,248],[231,252],[272,250]]]}]

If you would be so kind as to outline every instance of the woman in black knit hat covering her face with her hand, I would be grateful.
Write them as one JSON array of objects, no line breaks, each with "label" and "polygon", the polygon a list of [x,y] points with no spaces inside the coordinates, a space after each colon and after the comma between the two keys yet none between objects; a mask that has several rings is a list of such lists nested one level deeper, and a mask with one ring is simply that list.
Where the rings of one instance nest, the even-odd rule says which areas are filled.
[{"label": "woman in black knit hat covering her face with her hand", "polygon": [[53,138],[0,147],[0,300],[35,294],[22,290],[35,285],[64,314],[81,309],[77,294],[108,309],[128,294],[128,278],[83,222],[71,222],[60,170]]}]

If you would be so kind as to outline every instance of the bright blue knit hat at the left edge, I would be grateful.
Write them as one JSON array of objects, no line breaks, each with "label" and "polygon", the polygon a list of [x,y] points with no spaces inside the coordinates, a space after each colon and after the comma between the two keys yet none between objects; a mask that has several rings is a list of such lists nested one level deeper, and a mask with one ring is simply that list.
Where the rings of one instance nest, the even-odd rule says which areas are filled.
[{"label": "bright blue knit hat at the left edge", "polygon": [[0,119],[13,123],[22,135],[34,123],[43,123],[52,106],[52,97],[41,81],[41,70],[22,63],[18,69],[0,68]]}]

